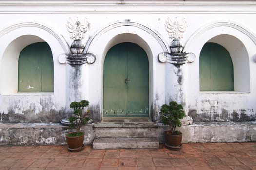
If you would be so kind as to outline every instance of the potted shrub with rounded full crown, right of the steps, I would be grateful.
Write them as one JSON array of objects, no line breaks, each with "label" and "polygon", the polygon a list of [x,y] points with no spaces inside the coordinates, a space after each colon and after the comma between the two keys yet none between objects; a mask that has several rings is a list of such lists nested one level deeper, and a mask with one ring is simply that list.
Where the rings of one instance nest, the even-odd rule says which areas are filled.
[{"label": "potted shrub with rounded full crown, right of the steps", "polygon": [[172,101],[169,105],[164,104],[160,110],[160,120],[164,125],[169,125],[170,130],[164,131],[165,133],[165,146],[172,150],[179,150],[182,147],[182,132],[176,130],[181,127],[180,119],[185,117],[185,111],[181,104]]}]

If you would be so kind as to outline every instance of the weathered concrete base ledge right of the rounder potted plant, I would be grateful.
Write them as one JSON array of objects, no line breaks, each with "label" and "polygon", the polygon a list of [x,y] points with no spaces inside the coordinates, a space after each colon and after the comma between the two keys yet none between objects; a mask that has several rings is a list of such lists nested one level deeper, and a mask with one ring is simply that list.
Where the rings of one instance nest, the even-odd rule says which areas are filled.
[{"label": "weathered concrete base ledge right of the rounder potted plant", "polygon": [[193,123],[181,126],[183,143],[252,142],[256,141],[256,121]]}]

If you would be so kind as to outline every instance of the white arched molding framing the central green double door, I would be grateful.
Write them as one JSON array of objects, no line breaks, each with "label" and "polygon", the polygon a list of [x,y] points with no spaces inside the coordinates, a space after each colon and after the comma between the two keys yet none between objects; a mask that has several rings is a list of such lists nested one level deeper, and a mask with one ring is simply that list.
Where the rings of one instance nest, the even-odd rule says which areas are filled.
[{"label": "white arched molding framing the central green double door", "polygon": [[[156,120],[157,115],[153,115],[155,105],[165,102],[165,64],[158,62],[158,54],[169,52],[169,47],[160,35],[153,29],[131,20],[118,21],[110,24],[92,36],[85,46],[84,53],[93,53],[96,62],[90,67],[90,73],[84,74],[84,82],[90,81],[88,87],[88,98],[91,103],[99,106],[98,115],[95,119],[101,119],[103,109],[103,70],[104,59],[107,51],[114,45],[122,42],[132,42],[142,47],[149,60],[149,108],[150,117]],[[154,81],[153,81],[154,80]],[[87,84],[89,85],[89,84]],[[154,100],[156,96],[163,97]]]}]

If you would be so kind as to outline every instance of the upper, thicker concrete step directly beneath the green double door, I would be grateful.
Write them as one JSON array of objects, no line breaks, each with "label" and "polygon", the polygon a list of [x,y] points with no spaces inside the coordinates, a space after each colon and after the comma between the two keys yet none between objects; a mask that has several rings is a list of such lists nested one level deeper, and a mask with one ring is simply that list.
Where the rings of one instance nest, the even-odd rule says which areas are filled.
[{"label": "upper, thicker concrete step directly beneath the green double door", "polygon": [[95,138],[150,138],[158,136],[155,123],[96,123]]}]

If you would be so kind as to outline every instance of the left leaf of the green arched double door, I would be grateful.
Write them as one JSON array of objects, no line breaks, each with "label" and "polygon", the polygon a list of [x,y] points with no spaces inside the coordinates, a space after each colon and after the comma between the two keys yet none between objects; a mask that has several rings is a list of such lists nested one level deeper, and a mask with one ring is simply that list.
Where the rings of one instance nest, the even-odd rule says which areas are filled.
[{"label": "left leaf of the green arched double door", "polygon": [[125,48],[114,47],[108,51],[104,62],[104,114],[126,113],[126,55]]}]

